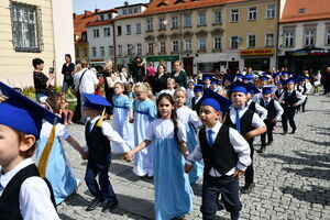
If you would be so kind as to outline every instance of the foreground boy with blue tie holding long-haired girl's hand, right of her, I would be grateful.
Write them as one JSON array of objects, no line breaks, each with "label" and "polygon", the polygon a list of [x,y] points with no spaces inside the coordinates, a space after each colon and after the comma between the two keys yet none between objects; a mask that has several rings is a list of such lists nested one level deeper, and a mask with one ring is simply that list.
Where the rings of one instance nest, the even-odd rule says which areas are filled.
[{"label": "foreground boy with blue tie holding long-haired girl's hand, right of her", "polygon": [[185,172],[204,158],[201,213],[202,219],[216,219],[218,196],[221,194],[232,220],[238,220],[242,204],[239,197],[239,177],[251,164],[250,147],[234,129],[220,123],[231,101],[207,90],[200,100],[199,117],[205,125],[199,131],[200,145],[188,156]]}]

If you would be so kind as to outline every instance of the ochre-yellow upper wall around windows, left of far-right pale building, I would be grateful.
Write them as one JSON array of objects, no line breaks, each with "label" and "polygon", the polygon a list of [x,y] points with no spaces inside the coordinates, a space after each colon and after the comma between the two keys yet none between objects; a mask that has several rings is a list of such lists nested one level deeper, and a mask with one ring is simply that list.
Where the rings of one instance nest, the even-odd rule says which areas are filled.
[{"label": "ochre-yellow upper wall around windows, left of far-right pale building", "polygon": [[[265,47],[265,34],[274,33],[274,46],[277,42],[277,13],[278,6],[277,0],[265,0],[265,1],[250,1],[244,3],[237,4],[227,4],[224,8],[224,13],[222,13],[222,22],[224,22],[226,32],[224,32],[224,50],[231,50],[230,38],[233,35],[242,37],[242,43],[239,44],[239,50],[248,47],[248,35],[255,34],[256,44],[255,48]],[[266,8],[268,4],[275,4],[275,19],[266,19]],[[256,7],[256,20],[249,21],[249,8]],[[231,22],[231,9],[239,9],[239,22]]]}]

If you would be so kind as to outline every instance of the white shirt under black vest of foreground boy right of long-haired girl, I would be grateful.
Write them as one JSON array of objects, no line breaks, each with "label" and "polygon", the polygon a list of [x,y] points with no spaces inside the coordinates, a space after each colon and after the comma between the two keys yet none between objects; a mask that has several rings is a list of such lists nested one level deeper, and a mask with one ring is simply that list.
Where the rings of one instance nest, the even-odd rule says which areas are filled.
[{"label": "white shirt under black vest of foreground boy right of long-haired girl", "polygon": [[[212,130],[213,131],[212,140],[216,140],[217,135],[221,129],[221,125],[222,124],[220,122],[218,122],[213,128],[206,127],[206,133],[208,133],[209,130]],[[207,135],[207,140],[209,138]],[[250,166],[250,164],[251,164],[250,146],[249,146],[249,143],[245,141],[245,139],[237,130],[230,128],[229,129],[229,141],[230,141],[230,144],[233,146],[234,152],[239,156],[239,162],[235,167],[232,167],[232,169],[230,169],[226,174],[226,176],[233,175],[237,168],[244,172],[248,168],[248,166]],[[191,162],[195,163],[200,160],[202,160],[202,154],[201,154],[200,145],[197,145],[195,147],[194,152],[188,156],[188,161],[186,161],[186,164],[193,165]],[[211,168],[209,174],[213,177],[221,176],[221,174],[219,172],[217,172],[216,168]]]}]

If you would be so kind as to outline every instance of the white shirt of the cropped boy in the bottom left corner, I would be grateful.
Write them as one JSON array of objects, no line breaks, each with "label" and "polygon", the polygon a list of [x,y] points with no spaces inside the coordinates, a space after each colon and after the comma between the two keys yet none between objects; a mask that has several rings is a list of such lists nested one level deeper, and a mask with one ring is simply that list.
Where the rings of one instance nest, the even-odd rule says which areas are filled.
[{"label": "white shirt of the cropped boy in the bottom left corner", "polygon": [[[6,188],[9,182],[21,169],[31,164],[34,164],[32,158],[25,158],[10,172],[0,175],[0,184],[2,187]],[[3,191],[0,191],[0,196],[2,193]],[[21,215],[24,220],[59,219],[51,200],[50,188],[45,180],[38,176],[29,177],[23,182],[20,190],[19,202]]]}]

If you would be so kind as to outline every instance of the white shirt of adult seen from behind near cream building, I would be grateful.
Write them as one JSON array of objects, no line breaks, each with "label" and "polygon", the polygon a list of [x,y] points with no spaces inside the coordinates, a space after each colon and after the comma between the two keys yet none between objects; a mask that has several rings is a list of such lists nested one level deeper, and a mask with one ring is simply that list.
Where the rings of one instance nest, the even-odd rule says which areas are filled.
[{"label": "white shirt of adult seen from behind near cream building", "polygon": [[[86,73],[84,74],[80,86],[79,86],[80,77],[85,70],[86,70]],[[99,80],[92,70],[90,70],[88,68],[82,68],[80,72],[78,72],[74,75],[74,82],[75,82],[76,89],[78,89],[78,86],[79,86],[80,94],[82,94],[82,92],[94,94],[95,88],[98,85]]]}]

